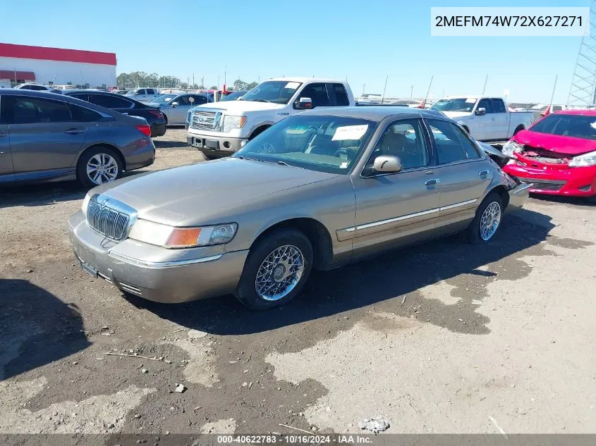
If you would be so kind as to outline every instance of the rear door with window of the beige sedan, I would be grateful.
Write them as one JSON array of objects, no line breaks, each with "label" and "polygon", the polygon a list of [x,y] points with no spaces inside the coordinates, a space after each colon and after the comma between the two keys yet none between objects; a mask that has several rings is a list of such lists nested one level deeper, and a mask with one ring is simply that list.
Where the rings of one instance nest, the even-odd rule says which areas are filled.
[{"label": "rear door with window of the beige sedan", "polygon": [[441,192],[437,228],[449,232],[465,227],[474,218],[494,169],[458,125],[439,119],[426,122],[437,153],[434,177]]}]

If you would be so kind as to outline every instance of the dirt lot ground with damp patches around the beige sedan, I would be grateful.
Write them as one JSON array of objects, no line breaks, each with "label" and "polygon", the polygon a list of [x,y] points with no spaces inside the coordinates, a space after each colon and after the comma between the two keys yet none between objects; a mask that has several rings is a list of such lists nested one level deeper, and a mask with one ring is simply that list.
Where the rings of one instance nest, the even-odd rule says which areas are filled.
[{"label": "dirt lot ground with damp patches around the beige sedan", "polygon": [[[201,162],[185,137],[157,138],[147,170]],[[84,194],[0,190],[0,434],[343,433],[372,416],[388,433],[596,432],[595,206],[533,198],[486,247],[314,273],[255,313],[83,273],[66,221]]]}]

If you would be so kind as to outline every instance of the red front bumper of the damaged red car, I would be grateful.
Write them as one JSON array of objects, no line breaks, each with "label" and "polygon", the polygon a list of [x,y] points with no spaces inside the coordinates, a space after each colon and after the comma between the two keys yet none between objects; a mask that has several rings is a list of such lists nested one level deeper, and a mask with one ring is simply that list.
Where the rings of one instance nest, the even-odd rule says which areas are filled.
[{"label": "red front bumper of the damaged red car", "polygon": [[533,193],[568,197],[596,195],[596,166],[549,169],[507,164],[503,170],[530,184]]}]

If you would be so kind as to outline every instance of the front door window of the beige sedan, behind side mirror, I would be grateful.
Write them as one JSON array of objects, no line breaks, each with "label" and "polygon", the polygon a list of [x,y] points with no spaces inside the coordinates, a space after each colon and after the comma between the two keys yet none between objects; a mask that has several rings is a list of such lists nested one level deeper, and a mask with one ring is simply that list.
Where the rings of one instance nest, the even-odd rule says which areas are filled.
[{"label": "front door window of the beige sedan, behind side mirror", "polygon": [[389,125],[372,151],[367,167],[377,156],[397,156],[403,169],[428,166],[428,151],[420,119],[403,119]]}]

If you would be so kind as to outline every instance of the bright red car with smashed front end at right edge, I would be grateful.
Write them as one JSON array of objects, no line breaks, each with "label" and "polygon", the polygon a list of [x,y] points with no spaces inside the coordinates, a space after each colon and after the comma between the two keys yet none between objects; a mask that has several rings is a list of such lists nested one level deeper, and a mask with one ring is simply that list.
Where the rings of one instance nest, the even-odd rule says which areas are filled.
[{"label": "bright red car with smashed front end at right edge", "polygon": [[521,130],[503,146],[504,171],[537,194],[596,202],[596,110],[562,110]]}]

